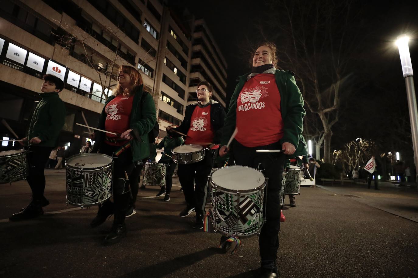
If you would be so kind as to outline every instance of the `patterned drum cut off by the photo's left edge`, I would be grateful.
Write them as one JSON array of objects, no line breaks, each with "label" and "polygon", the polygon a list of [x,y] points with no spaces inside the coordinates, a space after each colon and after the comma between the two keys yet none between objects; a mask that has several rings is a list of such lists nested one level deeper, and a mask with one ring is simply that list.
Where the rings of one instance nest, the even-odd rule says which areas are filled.
[{"label": "patterned drum cut off by the photo's left edge", "polygon": [[28,152],[6,150],[0,152],[0,183],[23,180],[28,175]]}]

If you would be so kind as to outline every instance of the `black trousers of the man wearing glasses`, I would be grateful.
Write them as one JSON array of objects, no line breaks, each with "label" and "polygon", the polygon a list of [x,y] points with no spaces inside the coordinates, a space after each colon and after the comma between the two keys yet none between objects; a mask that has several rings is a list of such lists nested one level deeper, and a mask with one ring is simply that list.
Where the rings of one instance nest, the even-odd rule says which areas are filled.
[{"label": "black trousers of the man wearing glasses", "polygon": [[[183,188],[184,198],[193,206],[196,217],[203,217],[206,205],[208,176],[212,173],[215,151],[205,150],[205,158],[199,162],[178,165],[178,180]],[[194,188],[194,183],[196,183]]]}]

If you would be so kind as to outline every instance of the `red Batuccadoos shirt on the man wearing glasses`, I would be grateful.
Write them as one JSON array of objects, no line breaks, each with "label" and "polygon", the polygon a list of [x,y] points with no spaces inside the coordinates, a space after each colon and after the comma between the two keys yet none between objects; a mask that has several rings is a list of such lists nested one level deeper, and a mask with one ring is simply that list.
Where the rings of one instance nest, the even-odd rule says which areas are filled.
[{"label": "red Batuccadoos shirt on the man wearing glasses", "polygon": [[190,128],[187,131],[186,145],[213,142],[215,133],[210,121],[210,108],[210,104],[204,108],[200,108],[198,105],[194,108],[193,114],[191,114]]}]

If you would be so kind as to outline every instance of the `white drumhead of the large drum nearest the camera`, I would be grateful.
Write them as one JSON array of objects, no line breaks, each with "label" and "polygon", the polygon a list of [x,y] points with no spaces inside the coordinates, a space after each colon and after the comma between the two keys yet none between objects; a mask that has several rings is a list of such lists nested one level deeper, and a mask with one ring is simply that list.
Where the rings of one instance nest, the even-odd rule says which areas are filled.
[{"label": "white drumhead of the large drum nearest the camera", "polygon": [[212,173],[212,182],[229,190],[251,190],[265,183],[259,170],[244,166],[222,167]]}]

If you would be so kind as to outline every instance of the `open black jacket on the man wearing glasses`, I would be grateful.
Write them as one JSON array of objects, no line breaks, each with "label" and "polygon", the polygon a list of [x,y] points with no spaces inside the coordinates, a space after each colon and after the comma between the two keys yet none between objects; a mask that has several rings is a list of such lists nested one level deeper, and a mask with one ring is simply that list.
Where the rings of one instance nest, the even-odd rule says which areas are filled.
[{"label": "open black jacket on the man wearing glasses", "polygon": [[[225,110],[222,107],[220,103],[214,100],[210,100],[211,102],[211,108],[210,108],[210,120],[211,125],[214,130],[215,136],[213,139],[213,143],[220,144],[221,143],[221,137],[222,132],[221,129],[224,126],[224,120],[225,120]],[[173,128],[174,130],[177,130],[181,133],[187,134],[190,128],[190,121],[191,121],[191,115],[193,115],[193,111],[196,108],[197,103],[193,103],[190,105],[187,105],[186,112],[184,113],[184,120],[181,123],[181,125],[178,128]],[[179,137],[181,136],[178,133],[171,132],[173,137]]]}]

